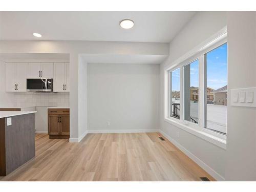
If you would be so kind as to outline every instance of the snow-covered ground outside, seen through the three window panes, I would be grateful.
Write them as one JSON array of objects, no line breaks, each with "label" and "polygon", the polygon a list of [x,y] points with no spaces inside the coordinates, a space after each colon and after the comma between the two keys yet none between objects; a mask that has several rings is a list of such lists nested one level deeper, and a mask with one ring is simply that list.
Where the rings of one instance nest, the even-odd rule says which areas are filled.
[{"label": "snow-covered ground outside, seen through the three window panes", "polygon": [[[180,103],[179,99],[172,99],[175,103]],[[190,116],[198,121],[198,103],[191,101]],[[227,106],[217,104],[207,104],[207,125],[206,127],[222,133],[227,132]]]}]

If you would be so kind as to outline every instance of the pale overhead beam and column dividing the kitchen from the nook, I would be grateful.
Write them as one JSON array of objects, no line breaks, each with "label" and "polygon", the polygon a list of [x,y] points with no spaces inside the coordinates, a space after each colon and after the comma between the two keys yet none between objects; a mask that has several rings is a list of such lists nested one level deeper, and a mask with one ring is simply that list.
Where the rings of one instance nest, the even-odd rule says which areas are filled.
[{"label": "pale overhead beam and column dividing the kitchen from the nook", "polygon": [[[124,54],[168,55],[165,43],[108,41],[0,40],[0,53],[69,53],[70,54],[70,137],[79,140],[78,55]],[[84,116],[86,114],[82,114]]]}]

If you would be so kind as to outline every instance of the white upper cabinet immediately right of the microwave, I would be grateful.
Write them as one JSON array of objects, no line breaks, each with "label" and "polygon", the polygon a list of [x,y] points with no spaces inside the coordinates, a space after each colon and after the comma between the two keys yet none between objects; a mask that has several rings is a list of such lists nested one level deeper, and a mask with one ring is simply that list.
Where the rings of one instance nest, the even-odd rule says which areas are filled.
[{"label": "white upper cabinet immediately right of the microwave", "polygon": [[53,91],[69,92],[69,63],[54,63]]}]

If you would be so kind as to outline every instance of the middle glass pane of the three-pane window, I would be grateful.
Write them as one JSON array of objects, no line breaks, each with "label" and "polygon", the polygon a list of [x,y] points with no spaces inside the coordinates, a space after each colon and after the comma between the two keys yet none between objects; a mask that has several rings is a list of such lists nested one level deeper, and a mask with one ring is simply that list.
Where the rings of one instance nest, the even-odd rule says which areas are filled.
[{"label": "middle glass pane of the three-pane window", "polygon": [[184,66],[184,120],[198,124],[199,112],[199,61]]}]

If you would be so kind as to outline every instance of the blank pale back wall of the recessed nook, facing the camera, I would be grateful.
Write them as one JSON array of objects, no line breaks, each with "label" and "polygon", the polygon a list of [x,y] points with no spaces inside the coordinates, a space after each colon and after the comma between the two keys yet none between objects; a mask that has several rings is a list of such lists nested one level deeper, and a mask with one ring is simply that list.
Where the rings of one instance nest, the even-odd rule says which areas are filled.
[{"label": "blank pale back wall of the recessed nook, facing the camera", "polygon": [[158,108],[159,65],[89,63],[90,132],[155,131]]}]

